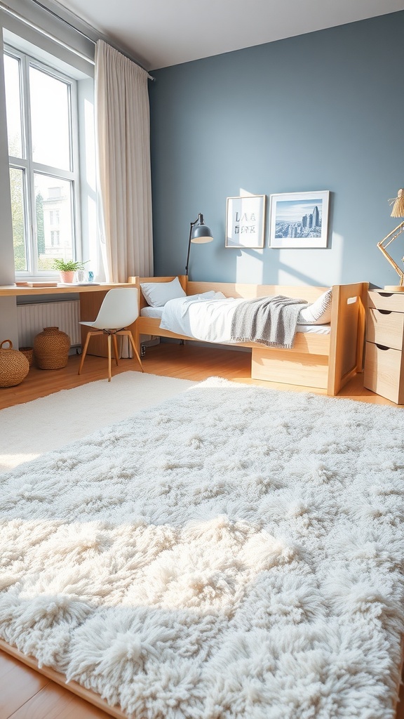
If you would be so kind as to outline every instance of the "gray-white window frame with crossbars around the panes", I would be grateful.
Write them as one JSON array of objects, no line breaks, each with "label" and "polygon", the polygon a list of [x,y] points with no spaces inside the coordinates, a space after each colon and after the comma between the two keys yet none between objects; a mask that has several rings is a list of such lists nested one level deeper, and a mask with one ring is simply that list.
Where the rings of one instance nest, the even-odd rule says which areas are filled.
[{"label": "gray-white window frame with crossbars around the panes", "polygon": [[[43,60],[35,58],[18,47],[4,42],[4,55],[19,60],[19,87],[22,125],[22,157],[9,155],[9,168],[22,170],[24,188],[24,230],[27,255],[27,270],[15,270],[16,278],[47,278],[57,277],[55,270],[38,268],[37,226],[35,212],[35,173],[46,175],[56,180],[67,180],[70,183],[71,226],[72,226],[72,258],[82,260],[81,241],[81,188],[79,158],[79,123],[78,123],[78,81],[70,75],[52,67]],[[57,60],[57,58],[55,58]],[[30,83],[29,68],[35,68],[50,75],[68,86],[69,97],[69,134],[70,134],[70,170],[63,170],[52,165],[35,162],[32,159],[32,129],[30,114]],[[70,259],[66,257],[65,259]]]}]

